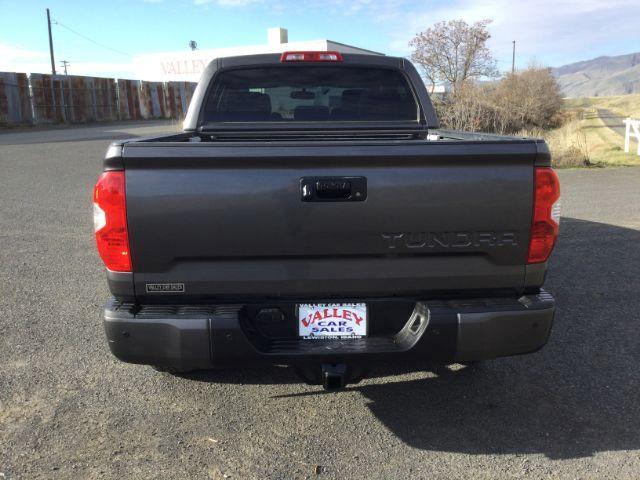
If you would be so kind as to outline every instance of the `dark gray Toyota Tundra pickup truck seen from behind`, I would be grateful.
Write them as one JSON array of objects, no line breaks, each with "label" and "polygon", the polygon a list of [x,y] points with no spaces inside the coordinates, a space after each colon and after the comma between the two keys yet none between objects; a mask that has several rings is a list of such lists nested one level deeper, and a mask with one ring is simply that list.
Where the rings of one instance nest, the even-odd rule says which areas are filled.
[{"label": "dark gray Toyota Tundra pickup truck seen from behind", "polygon": [[379,362],[533,352],[559,198],[543,141],[438,130],[405,59],[217,59],[182,133],[107,152],[109,347],[171,372],[290,365],[326,388]]}]

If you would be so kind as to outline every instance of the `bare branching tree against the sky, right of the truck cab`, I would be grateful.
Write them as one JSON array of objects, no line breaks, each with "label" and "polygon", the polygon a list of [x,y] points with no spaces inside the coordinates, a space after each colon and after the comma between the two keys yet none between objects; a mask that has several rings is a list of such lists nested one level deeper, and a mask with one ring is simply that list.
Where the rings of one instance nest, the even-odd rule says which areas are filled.
[{"label": "bare branching tree against the sky, right of the truck cab", "polygon": [[448,82],[454,90],[467,80],[494,77],[496,61],[487,47],[491,20],[469,25],[464,20],[436,23],[418,33],[409,46],[411,59],[420,65],[432,87]]}]

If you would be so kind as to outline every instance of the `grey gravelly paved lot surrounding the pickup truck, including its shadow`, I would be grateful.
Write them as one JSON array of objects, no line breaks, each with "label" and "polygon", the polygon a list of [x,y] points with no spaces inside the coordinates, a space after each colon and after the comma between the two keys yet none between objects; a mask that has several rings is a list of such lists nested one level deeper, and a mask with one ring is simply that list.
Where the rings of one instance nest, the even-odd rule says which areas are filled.
[{"label": "grey gravelly paved lot surrounding the pickup truck, including its shadow", "polygon": [[539,353],[388,368],[326,394],[286,369],[185,379],[116,361],[90,207],[107,142],[11,135],[22,144],[0,145],[0,478],[640,475],[639,168],[561,172],[547,284],[558,315]]}]

